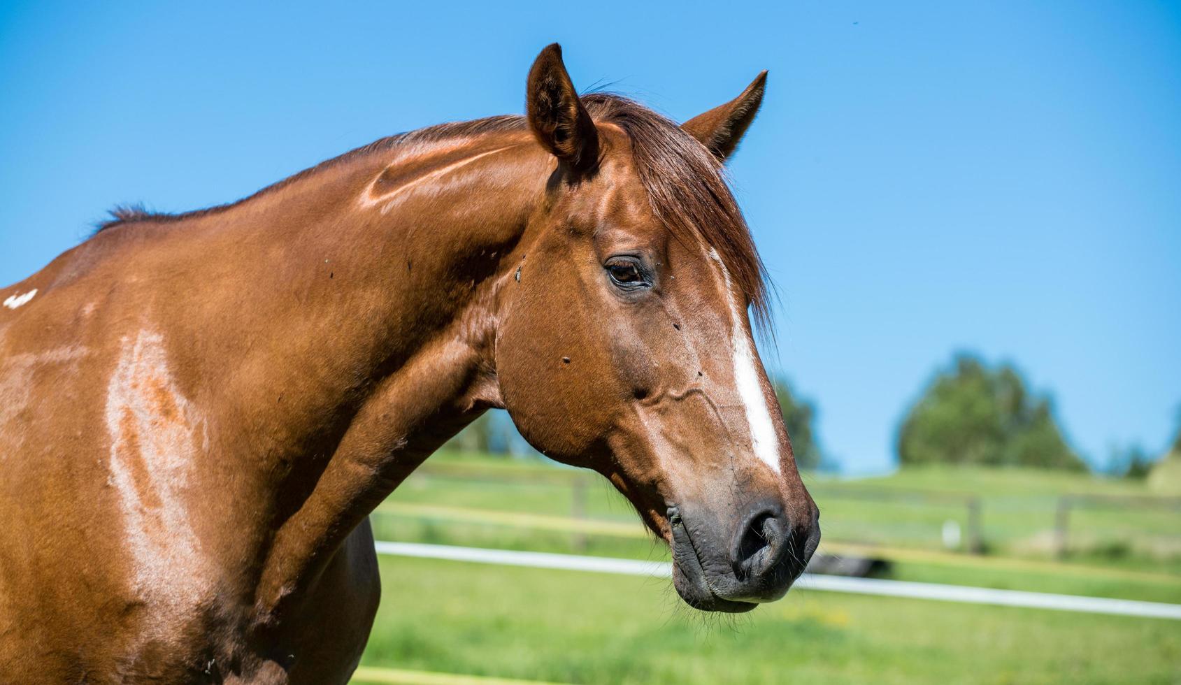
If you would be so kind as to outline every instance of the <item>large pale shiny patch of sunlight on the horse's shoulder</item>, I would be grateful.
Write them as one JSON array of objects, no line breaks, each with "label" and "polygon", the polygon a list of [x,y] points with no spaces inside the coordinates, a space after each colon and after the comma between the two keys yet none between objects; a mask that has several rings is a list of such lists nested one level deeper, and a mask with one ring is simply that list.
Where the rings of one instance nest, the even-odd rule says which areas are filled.
[{"label": "large pale shiny patch of sunlight on the horse's shoulder", "polygon": [[133,586],[145,600],[176,611],[194,607],[208,589],[207,562],[185,505],[198,423],[172,381],[163,338],[149,331],[133,341],[124,338],[106,390],[111,481]]}]

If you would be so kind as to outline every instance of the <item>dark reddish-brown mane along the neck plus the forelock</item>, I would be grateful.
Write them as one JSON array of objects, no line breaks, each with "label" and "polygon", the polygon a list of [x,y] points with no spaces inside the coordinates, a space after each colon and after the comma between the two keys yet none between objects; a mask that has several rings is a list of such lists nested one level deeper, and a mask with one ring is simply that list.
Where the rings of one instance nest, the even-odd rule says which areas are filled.
[{"label": "dark reddish-brown mane along the neck plus the forelock", "polygon": [[[770,307],[765,268],[755,250],[755,242],[742,211],[726,185],[722,163],[672,120],[632,99],[598,92],[582,96],[581,99],[595,122],[615,124],[631,137],[635,169],[648,193],[657,217],[668,227],[677,240],[686,244],[700,240],[718,252],[718,256],[730,272],[731,280],[750,301],[756,324],[763,331],[769,331]],[[139,206],[117,207],[111,210],[111,218],[100,223],[96,233],[139,221],[176,222],[217,214],[291,185],[326,168],[406,143],[435,142],[496,131],[521,131],[527,128],[528,123],[520,115],[428,126],[357,148],[229,204],[183,214],[154,214]]]}]

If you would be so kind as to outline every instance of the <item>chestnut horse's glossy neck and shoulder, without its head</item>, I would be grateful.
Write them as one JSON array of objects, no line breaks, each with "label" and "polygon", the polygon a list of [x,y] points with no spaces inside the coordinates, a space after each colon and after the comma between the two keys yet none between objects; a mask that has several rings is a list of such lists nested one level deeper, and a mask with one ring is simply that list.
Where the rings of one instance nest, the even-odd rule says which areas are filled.
[{"label": "chestnut horse's glossy neck and shoulder, without its head", "polygon": [[[379,171],[390,159],[374,162]],[[378,172],[366,167],[296,181],[224,213],[100,231],[4,291],[37,294],[0,311],[0,454],[8,462],[0,621],[14,621],[0,624],[13,638],[0,650],[24,660],[26,647],[53,650],[61,633],[91,634],[106,646],[79,654],[79,664],[136,664],[159,651],[189,671],[224,670],[243,646],[191,635],[250,628],[268,568],[291,563],[287,554],[333,552],[295,552],[308,543],[285,535],[285,523],[295,529],[327,515],[314,505],[317,487],[332,485],[337,469],[380,470],[376,504],[483,409],[468,397],[488,344],[472,304],[496,282],[470,287],[464,262],[478,254],[389,244],[416,228],[404,217],[422,207],[358,207]],[[347,190],[325,193],[332,181]],[[438,193],[431,202],[455,200]],[[325,207],[326,196],[353,202]],[[248,209],[257,218],[240,217]],[[465,221],[495,229],[509,222],[503,209],[487,216],[468,203]],[[320,221],[308,216],[317,211]],[[365,226],[373,215],[380,236]],[[464,230],[469,249],[484,249],[470,226],[417,228],[433,240]],[[489,236],[505,237],[515,236]],[[322,496],[355,508],[357,495]],[[358,531],[360,547],[366,536]],[[368,550],[328,578],[376,587],[371,537]],[[278,604],[293,589],[286,582],[259,599]],[[60,588],[60,604],[31,592],[46,586]],[[86,606],[90,594],[107,605]],[[365,600],[371,616],[374,598]],[[79,622],[112,608],[122,625]],[[28,615],[44,626],[25,622]],[[367,620],[358,627],[367,633]]]}]

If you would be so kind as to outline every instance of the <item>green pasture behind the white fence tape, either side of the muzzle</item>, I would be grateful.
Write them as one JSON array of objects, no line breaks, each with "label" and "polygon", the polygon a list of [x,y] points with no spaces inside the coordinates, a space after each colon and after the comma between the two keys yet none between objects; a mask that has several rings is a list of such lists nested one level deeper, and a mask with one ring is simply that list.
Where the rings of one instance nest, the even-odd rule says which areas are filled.
[{"label": "green pasture behind the white fence tape, either side of the muzzle", "polygon": [[[1143,497],[1142,483],[972,468],[809,481],[822,511],[821,550],[888,557],[899,580],[1181,602],[1181,557],[1135,552],[1146,540],[1181,542],[1181,511],[1167,505],[1176,501],[1149,498],[1150,505],[1134,510],[1078,508],[1075,536],[1115,531],[1122,544],[1109,550],[1115,554],[1057,560],[1046,550],[996,542],[984,556],[941,549],[939,530],[947,518],[966,518],[966,497],[980,501],[986,537],[1007,530],[1010,540],[1037,539],[1052,529],[1063,494]],[[575,509],[579,521],[572,520]],[[653,543],[603,478],[540,461],[437,455],[379,511],[374,531],[385,540],[667,559],[665,546]],[[586,531],[576,534],[570,526]]]}]

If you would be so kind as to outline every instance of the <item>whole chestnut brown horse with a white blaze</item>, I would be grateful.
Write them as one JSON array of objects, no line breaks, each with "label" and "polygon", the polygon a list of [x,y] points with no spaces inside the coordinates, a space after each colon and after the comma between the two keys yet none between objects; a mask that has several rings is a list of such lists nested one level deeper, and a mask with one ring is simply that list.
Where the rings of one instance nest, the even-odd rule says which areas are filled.
[{"label": "whole chestnut brown horse with a white blaze", "polygon": [[691,606],[782,596],[817,510],[720,171],[764,78],[677,126],[552,45],[524,117],[119,211],[0,289],[0,680],[346,681],[366,516],[489,407],[609,478]]}]

